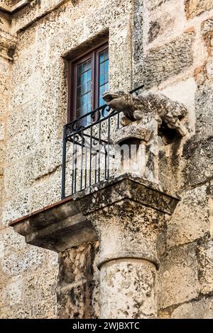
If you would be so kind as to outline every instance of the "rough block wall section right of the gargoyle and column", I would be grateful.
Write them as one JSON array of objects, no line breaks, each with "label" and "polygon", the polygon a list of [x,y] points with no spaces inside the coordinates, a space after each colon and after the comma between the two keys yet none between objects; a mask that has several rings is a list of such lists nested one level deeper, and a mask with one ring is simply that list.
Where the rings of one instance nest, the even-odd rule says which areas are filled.
[{"label": "rough block wall section right of the gargoyle and column", "polygon": [[160,183],[181,193],[160,245],[160,317],[213,316],[212,1],[144,1],[146,88],[185,103],[190,135],[162,146]]}]

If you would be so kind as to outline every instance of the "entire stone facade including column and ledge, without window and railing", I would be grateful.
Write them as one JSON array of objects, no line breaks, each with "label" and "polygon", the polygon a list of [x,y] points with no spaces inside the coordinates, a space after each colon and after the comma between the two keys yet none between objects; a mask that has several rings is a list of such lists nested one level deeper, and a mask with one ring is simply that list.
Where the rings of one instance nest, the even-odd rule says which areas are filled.
[{"label": "entire stone facade including column and ledge, without window and railing", "polygon": [[[107,38],[148,162],[61,201],[67,62]],[[0,1],[1,318],[213,318],[212,43],[212,0]]]}]

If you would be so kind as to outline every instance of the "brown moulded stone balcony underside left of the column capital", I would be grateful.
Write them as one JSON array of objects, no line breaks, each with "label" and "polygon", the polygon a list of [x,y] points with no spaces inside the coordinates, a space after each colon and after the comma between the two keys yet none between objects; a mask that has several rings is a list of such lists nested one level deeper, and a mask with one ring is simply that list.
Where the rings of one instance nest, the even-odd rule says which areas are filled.
[{"label": "brown moulded stone balcony underside left of the column capital", "polygon": [[25,236],[28,244],[55,252],[97,239],[91,223],[71,197],[15,220],[10,226]]}]

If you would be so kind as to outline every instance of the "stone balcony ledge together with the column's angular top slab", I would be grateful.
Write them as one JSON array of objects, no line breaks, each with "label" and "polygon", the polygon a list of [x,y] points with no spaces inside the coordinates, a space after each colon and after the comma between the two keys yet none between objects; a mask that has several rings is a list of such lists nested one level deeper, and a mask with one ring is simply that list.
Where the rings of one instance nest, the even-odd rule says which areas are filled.
[{"label": "stone balcony ledge together with the column's angular top slab", "polygon": [[178,196],[163,193],[157,184],[124,174],[10,223],[28,244],[56,252],[97,239],[87,215],[115,203],[131,201],[172,214]]}]

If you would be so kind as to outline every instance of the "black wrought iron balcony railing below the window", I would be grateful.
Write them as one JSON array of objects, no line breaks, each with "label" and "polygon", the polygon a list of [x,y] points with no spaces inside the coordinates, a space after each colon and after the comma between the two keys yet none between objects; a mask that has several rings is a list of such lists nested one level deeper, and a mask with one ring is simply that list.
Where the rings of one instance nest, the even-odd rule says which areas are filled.
[{"label": "black wrought iron balcony railing below the window", "polygon": [[[143,86],[130,91],[136,93]],[[114,172],[112,136],[120,126],[121,111],[107,104],[64,125],[62,199],[109,179]]]}]

